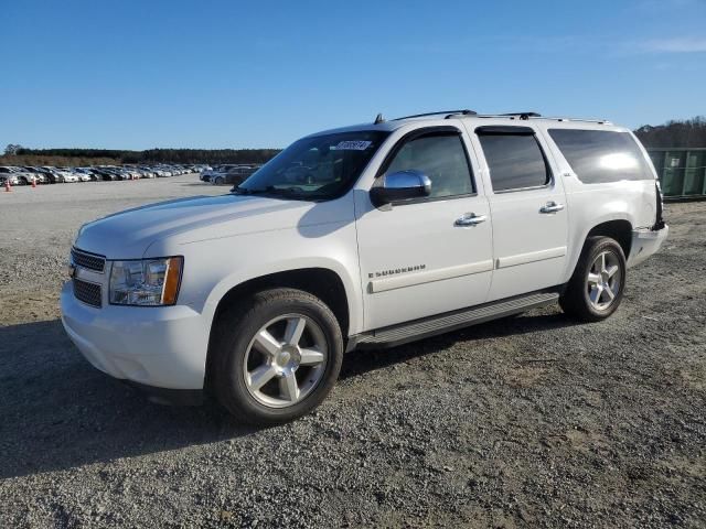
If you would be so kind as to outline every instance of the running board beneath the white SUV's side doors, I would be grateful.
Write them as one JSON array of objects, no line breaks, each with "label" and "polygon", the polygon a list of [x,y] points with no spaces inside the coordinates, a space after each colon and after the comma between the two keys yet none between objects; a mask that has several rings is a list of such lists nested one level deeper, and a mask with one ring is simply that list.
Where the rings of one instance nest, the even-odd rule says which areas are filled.
[{"label": "running board beneath the white SUV's side doors", "polygon": [[492,301],[460,311],[447,312],[437,316],[415,320],[413,322],[371,331],[370,333],[363,333],[351,344],[353,347],[349,348],[371,346],[394,347],[407,342],[414,342],[428,336],[448,333],[457,328],[511,316],[538,306],[549,305],[558,299],[559,293],[556,291],[542,291]]}]

